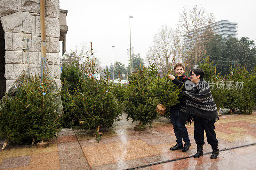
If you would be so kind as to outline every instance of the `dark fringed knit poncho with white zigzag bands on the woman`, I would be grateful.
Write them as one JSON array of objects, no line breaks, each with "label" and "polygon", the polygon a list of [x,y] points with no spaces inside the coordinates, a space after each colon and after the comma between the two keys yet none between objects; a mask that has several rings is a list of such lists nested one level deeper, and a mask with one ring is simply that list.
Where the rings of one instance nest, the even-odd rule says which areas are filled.
[{"label": "dark fringed knit poncho with white zigzag bands on the woman", "polygon": [[[218,121],[218,112],[216,104],[212,98],[209,84],[200,80],[193,89],[182,91],[185,96],[181,106],[181,115],[187,115],[187,124],[191,124],[191,120],[196,118],[204,122]],[[184,119],[183,119],[184,120]]]}]

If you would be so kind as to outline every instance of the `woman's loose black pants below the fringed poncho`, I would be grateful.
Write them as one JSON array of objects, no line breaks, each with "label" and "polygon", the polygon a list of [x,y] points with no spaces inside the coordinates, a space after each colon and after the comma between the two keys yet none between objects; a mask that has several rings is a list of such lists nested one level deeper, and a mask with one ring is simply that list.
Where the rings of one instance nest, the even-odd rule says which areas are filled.
[{"label": "woman's loose black pants below the fringed poncho", "polygon": [[204,122],[197,120],[194,118],[194,126],[195,126],[195,131],[194,131],[194,136],[195,136],[195,141],[197,146],[203,146],[204,145],[204,131],[206,134],[207,142],[212,146],[212,149],[216,149],[219,142],[216,138],[215,134],[215,122]]}]

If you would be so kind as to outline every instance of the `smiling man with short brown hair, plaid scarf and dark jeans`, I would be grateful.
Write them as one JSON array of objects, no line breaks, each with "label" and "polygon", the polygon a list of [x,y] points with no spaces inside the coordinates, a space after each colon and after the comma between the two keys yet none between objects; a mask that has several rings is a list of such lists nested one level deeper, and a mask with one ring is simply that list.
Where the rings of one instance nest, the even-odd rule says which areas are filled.
[{"label": "smiling man with short brown hair, plaid scarf and dark jeans", "polygon": [[[170,77],[174,78],[173,80],[170,78],[174,84],[183,85],[185,84],[185,81],[190,80],[184,74],[184,66],[182,63],[177,63],[174,66],[174,71],[176,73],[176,76],[178,76],[177,78],[174,78],[173,75],[169,75],[169,78]],[[183,88],[185,88],[185,86],[183,86]],[[180,103],[170,107],[171,121],[172,121],[173,131],[176,136],[176,142],[177,142],[177,144],[171,147],[170,150],[175,151],[178,149],[182,149],[182,152],[186,152],[191,146],[191,143],[188,138],[187,128],[185,126],[186,121],[179,118],[182,101],[183,101],[183,96],[180,98]],[[184,147],[183,147],[182,139],[185,142]]]}]

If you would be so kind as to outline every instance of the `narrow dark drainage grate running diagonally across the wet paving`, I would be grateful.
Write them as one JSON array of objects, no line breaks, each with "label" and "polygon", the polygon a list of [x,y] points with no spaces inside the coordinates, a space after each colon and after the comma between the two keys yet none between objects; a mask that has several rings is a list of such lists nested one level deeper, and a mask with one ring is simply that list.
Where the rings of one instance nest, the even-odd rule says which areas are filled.
[{"label": "narrow dark drainage grate running diagonally across the wet paving", "polygon": [[[246,146],[251,146],[251,145],[256,145],[256,143],[254,143],[254,144],[249,144],[249,145],[236,146],[236,147],[228,148],[228,149],[221,149],[220,152],[221,152],[221,151],[231,150],[231,149],[236,149],[236,148],[242,148],[242,147],[246,147]],[[209,154],[209,153],[212,153],[212,152],[206,152],[206,153],[204,153],[204,155],[207,155],[207,154]],[[147,166],[159,165],[159,164],[164,164],[164,163],[167,163],[167,162],[173,162],[173,161],[176,161],[176,160],[188,159],[188,158],[192,158],[192,157],[194,157],[194,155],[188,156],[188,157],[184,157],[184,158],[165,160],[165,161],[162,161],[162,162],[156,162],[156,163],[153,163],[153,164],[138,166],[138,167],[134,167],[134,168],[128,168],[128,169],[124,169],[124,170],[139,169],[139,168],[144,168],[144,167],[147,167]]]}]

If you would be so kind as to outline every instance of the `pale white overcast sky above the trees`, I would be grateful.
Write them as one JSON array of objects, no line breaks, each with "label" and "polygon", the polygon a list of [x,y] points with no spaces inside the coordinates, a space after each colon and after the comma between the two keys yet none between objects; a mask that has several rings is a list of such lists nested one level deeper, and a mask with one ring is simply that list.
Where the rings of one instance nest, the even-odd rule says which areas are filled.
[{"label": "pale white overcast sky above the trees", "polygon": [[[202,5],[212,12],[216,21],[229,20],[238,23],[237,37],[256,39],[254,0],[60,0],[60,9],[68,10],[67,52],[85,42],[93,43],[95,56],[102,66],[112,63],[128,64],[130,48],[129,16],[131,18],[131,43],[134,53],[145,59],[154,33],[161,25],[175,29],[183,6],[191,9]],[[66,53],[67,53],[66,52]]]}]

